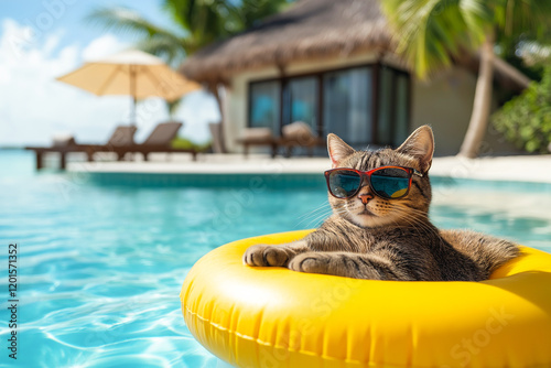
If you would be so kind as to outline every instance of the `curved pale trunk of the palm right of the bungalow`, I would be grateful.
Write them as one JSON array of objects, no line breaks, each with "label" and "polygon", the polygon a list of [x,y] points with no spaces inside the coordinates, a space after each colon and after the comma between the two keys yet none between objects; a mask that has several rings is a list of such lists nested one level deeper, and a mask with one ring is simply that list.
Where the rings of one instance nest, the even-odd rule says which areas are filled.
[{"label": "curved pale trunk of the palm right of the bungalow", "polygon": [[494,37],[488,35],[480,48],[480,67],[476,80],[473,112],[467,132],[457,155],[474,159],[478,155],[488,126],[491,107],[491,86],[494,79]]}]

